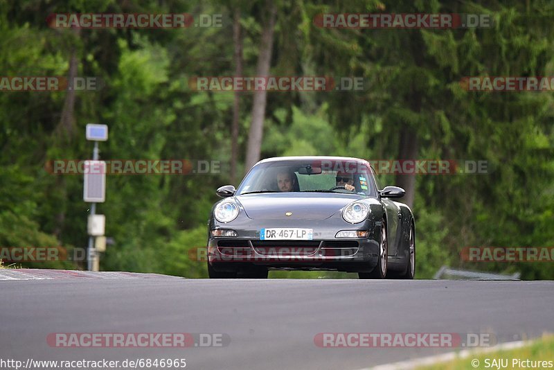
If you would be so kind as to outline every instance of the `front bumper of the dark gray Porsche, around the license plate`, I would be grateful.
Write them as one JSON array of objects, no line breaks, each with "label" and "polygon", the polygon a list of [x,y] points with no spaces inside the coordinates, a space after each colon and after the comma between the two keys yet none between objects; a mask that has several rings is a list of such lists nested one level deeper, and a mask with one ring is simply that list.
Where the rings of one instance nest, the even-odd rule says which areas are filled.
[{"label": "front bumper of the dark gray Porsche, around the license plate", "polygon": [[[377,220],[379,222],[377,222]],[[252,220],[242,215],[232,222],[214,218],[208,229],[232,229],[235,238],[208,237],[208,263],[220,272],[251,268],[279,270],[337,270],[371,272],[379,259],[381,216],[370,213],[360,224],[349,224],[337,212],[330,218],[310,220],[295,218]],[[312,229],[313,240],[260,240],[264,228]],[[369,231],[367,238],[336,238],[339,231]]]}]

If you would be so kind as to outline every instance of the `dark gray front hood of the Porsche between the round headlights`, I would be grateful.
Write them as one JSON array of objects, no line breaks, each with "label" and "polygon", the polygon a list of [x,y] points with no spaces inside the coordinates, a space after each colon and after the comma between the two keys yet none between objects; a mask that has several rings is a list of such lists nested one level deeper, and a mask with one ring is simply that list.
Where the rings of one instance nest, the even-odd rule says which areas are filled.
[{"label": "dark gray front hood of the Porsche between the round headlights", "polygon": [[[363,198],[359,195],[328,193],[271,193],[236,197],[244,212],[253,220],[324,220],[347,204]],[[285,215],[287,212],[292,215]]]}]

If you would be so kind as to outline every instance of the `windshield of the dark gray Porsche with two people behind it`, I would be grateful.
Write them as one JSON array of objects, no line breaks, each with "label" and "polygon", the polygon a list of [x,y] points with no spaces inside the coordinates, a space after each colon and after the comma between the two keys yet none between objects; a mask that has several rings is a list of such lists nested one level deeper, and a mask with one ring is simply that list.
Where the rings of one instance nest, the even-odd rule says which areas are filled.
[{"label": "windshield of the dark gray Porsche with two people behind it", "polygon": [[364,162],[325,159],[258,164],[240,184],[237,194],[289,191],[376,195]]}]

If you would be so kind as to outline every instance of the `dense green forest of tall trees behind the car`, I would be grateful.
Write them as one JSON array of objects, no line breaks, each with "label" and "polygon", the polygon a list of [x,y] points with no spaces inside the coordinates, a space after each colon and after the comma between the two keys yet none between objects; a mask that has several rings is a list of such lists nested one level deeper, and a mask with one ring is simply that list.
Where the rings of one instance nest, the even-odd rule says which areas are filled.
[{"label": "dense green forest of tall trees behind the car", "polygon": [[[221,28],[49,28],[55,12],[222,15]],[[491,28],[340,29],[324,12],[490,14]],[[215,189],[238,185],[257,157],[488,161],[487,174],[382,175],[409,190],[417,274],[441,265],[554,279],[551,263],[464,263],[467,246],[554,245],[553,92],[474,92],[465,76],[554,76],[551,1],[0,0],[2,76],[96,76],[98,91],[0,91],[0,246],[87,245],[81,175],[55,159],[88,159],[87,123],[109,125],[102,159],[221,161],[208,175],[109,175],[100,270],[207,276],[189,251],[206,243]],[[357,76],[364,91],[195,91],[195,76]],[[238,64],[239,68],[238,69]],[[262,69],[263,70],[263,69]],[[235,112],[235,114],[233,114]],[[233,116],[234,127],[233,130]],[[194,252],[192,252],[194,254]],[[83,268],[82,263],[23,267]],[[271,276],[344,277],[332,272]]]}]

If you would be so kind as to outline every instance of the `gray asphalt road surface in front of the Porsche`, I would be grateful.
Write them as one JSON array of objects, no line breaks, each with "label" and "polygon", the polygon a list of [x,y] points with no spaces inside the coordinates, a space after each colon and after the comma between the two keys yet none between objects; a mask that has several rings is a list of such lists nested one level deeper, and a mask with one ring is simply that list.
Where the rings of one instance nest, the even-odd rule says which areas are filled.
[{"label": "gray asphalt road surface in front of the Porsche", "polygon": [[[321,348],[318,333],[554,332],[553,281],[1,280],[0,360],[186,358],[186,369],[359,369],[449,349]],[[50,333],[221,333],[223,347],[57,348]],[[546,359],[551,360],[551,359]],[[2,367],[3,368],[3,367]],[[154,369],[154,367],[152,367]]]}]

